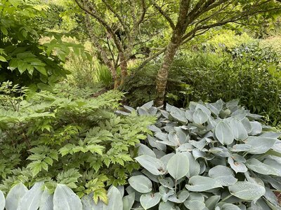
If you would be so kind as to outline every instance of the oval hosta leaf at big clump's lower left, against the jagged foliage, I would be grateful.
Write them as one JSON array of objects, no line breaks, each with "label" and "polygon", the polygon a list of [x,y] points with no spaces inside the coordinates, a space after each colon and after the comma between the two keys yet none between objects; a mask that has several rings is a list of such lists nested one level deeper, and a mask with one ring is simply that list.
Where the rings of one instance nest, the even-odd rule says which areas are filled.
[{"label": "oval hosta leaf at big clump's lower left, against the jagged foliage", "polygon": [[149,193],[152,190],[152,182],[146,176],[131,176],[128,182],[133,189],[140,193]]}]

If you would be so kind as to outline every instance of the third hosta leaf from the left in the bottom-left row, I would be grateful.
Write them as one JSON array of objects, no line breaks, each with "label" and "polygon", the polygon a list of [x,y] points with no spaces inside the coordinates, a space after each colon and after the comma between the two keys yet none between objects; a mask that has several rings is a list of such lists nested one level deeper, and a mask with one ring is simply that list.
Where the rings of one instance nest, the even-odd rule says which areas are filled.
[{"label": "third hosta leaf from the left in the bottom-left row", "polygon": [[18,204],[17,210],[33,210],[38,209],[43,191],[41,187],[43,182],[35,183],[34,186],[25,193]]}]

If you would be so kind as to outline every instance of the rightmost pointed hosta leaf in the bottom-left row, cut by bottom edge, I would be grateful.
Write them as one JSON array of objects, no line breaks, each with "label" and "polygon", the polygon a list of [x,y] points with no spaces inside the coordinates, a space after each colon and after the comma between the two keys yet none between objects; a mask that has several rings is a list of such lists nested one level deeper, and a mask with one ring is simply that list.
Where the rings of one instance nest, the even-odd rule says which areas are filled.
[{"label": "rightmost pointed hosta leaf in the bottom-left row, cut by bottom edge", "polygon": [[119,190],[112,186],[107,193],[108,204],[103,204],[103,210],[123,210],[122,195]]}]

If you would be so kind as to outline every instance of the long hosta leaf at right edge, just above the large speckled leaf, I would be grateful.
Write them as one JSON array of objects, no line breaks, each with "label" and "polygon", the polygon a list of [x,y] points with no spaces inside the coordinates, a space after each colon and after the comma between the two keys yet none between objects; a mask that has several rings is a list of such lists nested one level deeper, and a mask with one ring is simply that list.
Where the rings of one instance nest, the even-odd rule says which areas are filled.
[{"label": "long hosta leaf at right edge, just above the large speckled leaf", "polygon": [[259,174],[281,176],[276,169],[264,164],[263,162],[260,162],[259,160],[256,160],[255,158],[247,160],[246,165],[248,169],[251,169]]}]

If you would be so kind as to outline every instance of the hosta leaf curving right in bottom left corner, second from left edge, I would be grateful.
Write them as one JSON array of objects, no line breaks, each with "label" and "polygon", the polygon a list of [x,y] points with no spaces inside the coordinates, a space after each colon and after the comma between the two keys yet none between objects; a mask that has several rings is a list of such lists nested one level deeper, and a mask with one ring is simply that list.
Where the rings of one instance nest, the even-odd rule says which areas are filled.
[{"label": "hosta leaf curving right in bottom left corner, second from left edge", "polygon": [[23,183],[18,183],[17,185],[11,188],[10,192],[6,197],[6,209],[15,210],[18,209],[18,203],[21,198],[27,193],[27,187]]}]

